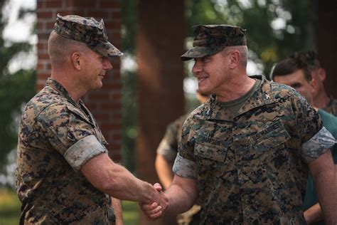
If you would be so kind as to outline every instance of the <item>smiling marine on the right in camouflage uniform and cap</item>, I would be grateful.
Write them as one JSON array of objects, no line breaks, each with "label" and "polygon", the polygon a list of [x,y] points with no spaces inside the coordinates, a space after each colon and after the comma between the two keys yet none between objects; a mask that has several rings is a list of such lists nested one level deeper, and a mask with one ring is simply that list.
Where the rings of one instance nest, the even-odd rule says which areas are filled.
[{"label": "smiling marine on the right in camouflage uniform and cap", "polygon": [[[328,149],[336,140],[322,127],[317,112],[292,88],[269,82],[261,75],[248,78],[243,66],[235,67],[242,65],[238,57],[244,54],[237,46],[246,45],[242,28],[194,26],[193,33],[193,48],[181,59],[195,58],[192,71],[200,91],[223,94],[221,88],[228,90],[234,82],[218,81],[221,75],[240,75],[241,89],[245,82],[252,83],[250,78],[255,81],[250,90],[243,89],[247,91],[240,98],[221,101],[224,95],[213,95],[184,122],[173,165],[176,176],[166,191],[173,204],[171,210],[190,199],[194,201],[196,196],[189,193],[197,192],[200,224],[305,224],[302,198],[307,164],[331,160],[329,179],[333,178]],[[227,46],[235,48],[228,48],[228,53]],[[222,83],[217,86],[216,82]],[[321,155],[324,157],[318,159]],[[317,169],[313,166],[311,171]],[[331,197],[336,199],[336,194]],[[336,206],[331,199],[324,204],[329,212]],[[142,209],[149,211],[151,207]]]}]

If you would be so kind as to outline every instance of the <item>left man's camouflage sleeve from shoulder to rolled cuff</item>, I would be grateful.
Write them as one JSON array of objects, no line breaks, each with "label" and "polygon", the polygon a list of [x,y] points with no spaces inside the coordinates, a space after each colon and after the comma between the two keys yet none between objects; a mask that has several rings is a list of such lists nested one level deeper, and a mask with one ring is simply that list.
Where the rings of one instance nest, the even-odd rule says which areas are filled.
[{"label": "left man's camouflage sleeve from shoulder to rolled cuff", "polygon": [[92,157],[107,152],[95,136],[95,128],[83,117],[73,113],[64,103],[49,105],[38,123],[45,130],[50,145],[60,152],[75,171]]}]

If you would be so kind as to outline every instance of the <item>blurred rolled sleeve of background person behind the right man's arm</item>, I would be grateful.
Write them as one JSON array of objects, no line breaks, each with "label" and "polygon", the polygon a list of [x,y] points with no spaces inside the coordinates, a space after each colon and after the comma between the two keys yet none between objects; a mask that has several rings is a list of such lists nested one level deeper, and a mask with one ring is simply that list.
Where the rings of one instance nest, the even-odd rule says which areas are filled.
[{"label": "blurred rolled sleeve of background person behind the right man's arm", "polygon": [[[178,152],[178,130],[175,122],[171,122],[166,128],[165,135],[157,148],[157,154],[162,155],[169,162],[173,162]],[[180,127],[181,129],[181,127]]]}]

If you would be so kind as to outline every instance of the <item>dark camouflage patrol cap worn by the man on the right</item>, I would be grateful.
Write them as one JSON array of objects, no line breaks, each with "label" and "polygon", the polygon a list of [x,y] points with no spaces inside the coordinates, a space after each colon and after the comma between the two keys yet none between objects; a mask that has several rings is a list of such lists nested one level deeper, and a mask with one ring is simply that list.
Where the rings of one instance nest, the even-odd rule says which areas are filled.
[{"label": "dark camouflage patrol cap worn by the man on the right", "polygon": [[193,26],[193,48],[181,56],[182,61],[211,56],[226,46],[245,46],[245,30],[230,25]]}]

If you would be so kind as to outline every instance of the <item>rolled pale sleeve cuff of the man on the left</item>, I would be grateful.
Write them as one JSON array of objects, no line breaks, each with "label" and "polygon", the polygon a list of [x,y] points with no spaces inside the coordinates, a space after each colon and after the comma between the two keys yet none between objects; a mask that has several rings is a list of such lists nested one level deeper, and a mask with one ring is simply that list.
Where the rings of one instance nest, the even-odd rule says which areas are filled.
[{"label": "rolled pale sleeve cuff of the man on the left", "polygon": [[94,135],[90,135],[78,140],[68,148],[64,157],[75,171],[79,171],[85,162],[103,152],[107,152],[104,145]]}]

